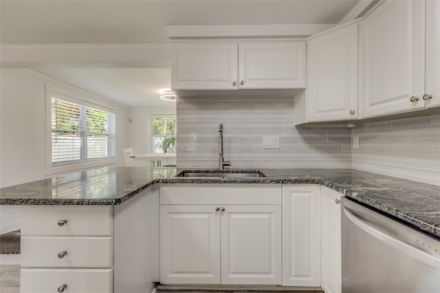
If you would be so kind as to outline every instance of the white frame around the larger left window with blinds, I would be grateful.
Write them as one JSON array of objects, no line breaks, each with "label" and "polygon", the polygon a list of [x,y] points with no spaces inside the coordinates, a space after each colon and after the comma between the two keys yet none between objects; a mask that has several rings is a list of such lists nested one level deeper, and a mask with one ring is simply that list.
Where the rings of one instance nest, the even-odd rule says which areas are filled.
[{"label": "white frame around the larger left window with blinds", "polygon": [[[87,107],[92,107],[95,109],[100,109],[103,111],[109,111],[112,113],[116,113],[115,109],[111,108],[110,105],[103,102],[100,98],[93,96],[91,94],[87,94],[84,91],[76,90],[69,87],[63,87],[58,85],[52,85],[50,83],[45,84],[46,89],[46,170],[45,175],[52,175],[56,173],[65,173],[69,171],[76,171],[79,169],[88,169],[96,166],[104,166],[109,164],[116,164],[116,157],[109,158],[97,158],[90,159],[87,161],[81,162],[67,162],[66,164],[58,165],[52,164],[52,96],[54,94],[64,100],[68,100],[70,102],[76,102],[81,105],[85,105]],[[116,134],[115,134],[115,140]],[[116,145],[116,141],[115,141]],[[115,149],[115,152],[117,149]]]}]

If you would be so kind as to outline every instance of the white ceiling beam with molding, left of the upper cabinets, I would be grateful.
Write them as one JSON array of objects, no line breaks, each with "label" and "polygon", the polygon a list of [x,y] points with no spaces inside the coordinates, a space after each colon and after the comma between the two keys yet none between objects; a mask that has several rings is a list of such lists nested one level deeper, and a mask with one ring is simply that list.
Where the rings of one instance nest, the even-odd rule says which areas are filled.
[{"label": "white ceiling beam with molding, left of the upper cabinets", "polygon": [[168,44],[142,45],[0,45],[0,67],[78,65],[100,67],[171,67]]}]

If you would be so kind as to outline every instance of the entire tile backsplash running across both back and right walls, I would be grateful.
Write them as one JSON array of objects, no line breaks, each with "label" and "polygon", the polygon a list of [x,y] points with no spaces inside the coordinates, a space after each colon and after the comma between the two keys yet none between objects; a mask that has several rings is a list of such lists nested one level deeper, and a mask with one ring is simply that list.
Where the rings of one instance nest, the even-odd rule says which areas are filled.
[{"label": "entire tile backsplash running across both back and right walls", "polygon": [[[219,123],[232,168],[354,168],[440,185],[440,115],[294,127],[293,98],[177,99],[177,164],[217,168]],[[280,138],[263,149],[263,136]],[[360,148],[352,149],[353,135]]]}]

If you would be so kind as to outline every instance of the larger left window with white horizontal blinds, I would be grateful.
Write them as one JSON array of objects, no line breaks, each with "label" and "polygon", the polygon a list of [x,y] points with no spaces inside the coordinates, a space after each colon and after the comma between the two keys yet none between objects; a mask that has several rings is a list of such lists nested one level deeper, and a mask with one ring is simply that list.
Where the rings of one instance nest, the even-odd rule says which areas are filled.
[{"label": "larger left window with white horizontal blinds", "polygon": [[115,157],[115,113],[51,93],[52,166]]}]

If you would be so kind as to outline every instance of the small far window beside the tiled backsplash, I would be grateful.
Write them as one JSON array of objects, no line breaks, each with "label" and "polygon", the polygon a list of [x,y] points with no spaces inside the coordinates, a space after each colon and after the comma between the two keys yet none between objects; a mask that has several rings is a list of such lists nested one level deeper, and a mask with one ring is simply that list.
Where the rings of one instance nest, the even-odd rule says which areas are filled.
[{"label": "small far window beside the tiled backsplash", "polygon": [[168,153],[171,145],[176,145],[176,117],[152,116],[151,150],[153,153]]}]

